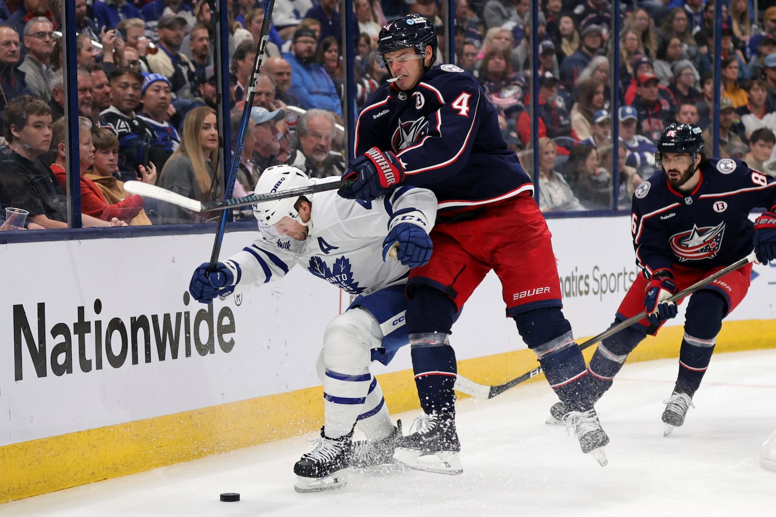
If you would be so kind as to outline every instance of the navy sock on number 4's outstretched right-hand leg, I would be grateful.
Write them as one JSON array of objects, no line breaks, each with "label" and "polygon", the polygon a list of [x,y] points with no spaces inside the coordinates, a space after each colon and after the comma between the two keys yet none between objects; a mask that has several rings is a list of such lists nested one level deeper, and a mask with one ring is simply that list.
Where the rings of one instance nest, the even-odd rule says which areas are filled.
[{"label": "navy sock on number 4's outstretched right-hand leg", "polygon": [[593,407],[582,351],[574,343],[571,325],[560,308],[540,308],[514,315],[520,336],[536,353],[549,385],[566,411]]}]

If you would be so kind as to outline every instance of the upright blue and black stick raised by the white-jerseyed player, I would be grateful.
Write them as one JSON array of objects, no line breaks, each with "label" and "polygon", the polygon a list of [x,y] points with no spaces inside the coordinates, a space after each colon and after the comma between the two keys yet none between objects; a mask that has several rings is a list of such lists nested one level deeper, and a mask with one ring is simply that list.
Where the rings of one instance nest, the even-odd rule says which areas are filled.
[{"label": "upright blue and black stick raised by the white-jerseyed player", "polygon": [[[275,6],[275,0],[268,0],[267,8],[264,10],[264,22],[262,25],[262,32],[258,40],[258,47],[256,48],[256,60],[253,63],[253,69],[251,70],[251,76],[248,78],[248,89],[245,91],[245,105],[243,106],[242,117],[240,119],[240,129],[237,130],[237,137],[234,139],[234,155],[232,156],[231,167],[229,175],[227,176],[226,188],[223,189],[223,201],[231,201],[232,191],[234,191],[234,182],[237,181],[237,168],[240,165],[243,150],[243,140],[245,137],[245,127],[248,126],[248,119],[251,115],[251,109],[253,109],[253,97],[256,91],[256,81],[258,81],[258,73],[262,70],[262,61],[264,60],[264,50],[267,47],[267,38],[269,35],[269,26],[272,22],[272,8]],[[224,13],[221,13],[223,16]],[[224,149],[223,153],[229,150]],[[250,203],[246,203],[250,204]],[[205,205],[205,203],[203,203]],[[230,208],[240,205],[225,205],[223,208]],[[221,208],[221,207],[219,207]],[[213,253],[210,253],[210,267],[208,271],[216,271],[216,264],[218,262],[218,256],[221,253],[221,243],[223,243],[223,233],[227,227],[227,212],[221,212],[221,218],[218,222],[218,229],[216,232],[216,239],[213,241]]]}]

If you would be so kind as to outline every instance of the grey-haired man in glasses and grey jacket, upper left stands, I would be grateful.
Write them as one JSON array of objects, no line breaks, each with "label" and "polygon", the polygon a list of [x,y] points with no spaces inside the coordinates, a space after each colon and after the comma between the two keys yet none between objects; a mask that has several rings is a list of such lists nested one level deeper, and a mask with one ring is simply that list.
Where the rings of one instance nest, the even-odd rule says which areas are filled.
[{"label": "grey-haired man in glasses and grey jacket, upper left stands", "polygon": [[54,24],[37,16],[24,26],[24,46],[27,56],[19,65],[26,74],[29,90],[44,101],[51,100],[51,55],[54,53]]}]

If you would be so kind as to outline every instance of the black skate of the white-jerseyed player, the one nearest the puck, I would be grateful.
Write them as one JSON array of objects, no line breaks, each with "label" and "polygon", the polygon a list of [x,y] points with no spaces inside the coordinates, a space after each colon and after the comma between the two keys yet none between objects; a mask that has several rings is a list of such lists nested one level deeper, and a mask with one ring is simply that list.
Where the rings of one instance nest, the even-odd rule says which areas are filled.
[{"label": "black skate of the white-jerseyed player, the one nearest the puck", "polygon": [[348,482],[347,468],[353,455],[353,432],[341,438],[327,438],[320,428],[315,448],[304,453],[293,466],[296,474],[293,488],[300,494],[342,488]]}]

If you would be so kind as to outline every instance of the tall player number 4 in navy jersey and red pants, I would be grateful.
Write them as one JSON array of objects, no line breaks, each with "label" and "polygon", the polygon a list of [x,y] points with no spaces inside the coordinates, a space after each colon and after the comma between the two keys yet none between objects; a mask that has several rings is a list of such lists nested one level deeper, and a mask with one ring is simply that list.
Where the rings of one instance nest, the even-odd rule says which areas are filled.
[{"label": "tall player number 4 in navy jersey and red pants", "polygon": [[[533,184],[501,137],[497,114],[477,81],[452,64],[433,66],[437,36],[422,16],[383,26],[378,61],[390,84],[376,90],[359,115],[355,159],[340,190],[369,200],[414,185],[435,192],[437,225],[431,260],[407,282],[407,329],[424,419],[403,436],[394,457],[424,470],[459,474],[453,316],[493,269],[506,315],[535,351],[547,380],[569,409],[585,453],[605,464],[608,437],[595,414],[587,369],[561,312],[550,233],[532,198]],[[487,329],[483,329],[487,336]]]}]

